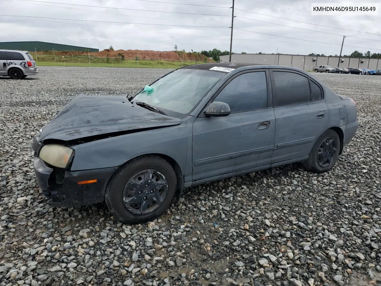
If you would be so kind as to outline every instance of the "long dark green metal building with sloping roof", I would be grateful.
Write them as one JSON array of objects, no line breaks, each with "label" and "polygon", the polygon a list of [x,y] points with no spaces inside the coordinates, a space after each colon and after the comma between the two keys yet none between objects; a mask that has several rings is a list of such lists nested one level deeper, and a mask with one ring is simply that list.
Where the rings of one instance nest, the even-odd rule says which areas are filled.
[{"label": "long dark green metal building with sloping roof", "polygon": [[21,51],[99,51],[99,49],[48,42],[0,42],[0,49]]}]

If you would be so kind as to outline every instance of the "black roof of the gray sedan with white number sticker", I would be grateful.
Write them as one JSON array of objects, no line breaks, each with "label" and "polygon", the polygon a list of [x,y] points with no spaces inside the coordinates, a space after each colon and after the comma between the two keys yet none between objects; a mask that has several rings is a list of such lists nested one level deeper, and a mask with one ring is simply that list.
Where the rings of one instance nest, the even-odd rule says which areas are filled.
[{"label": "black roof of the gray sedan with white number sticker", "polygon": [[[301,69],[298,69],[296,67],[290,67],[290,66],[268,65],[268,64],[258,64],[258,63],[235,63],[235,62],[192,64],[190,66],[180,67],[179,69],[210,70],[213,68],[217,68],[217,69],[214,69],[214,71],[228,73],[229,71],[239,69],[240,67],[248,67],[248,66],[255,67],[255,69],[276,69],[276,68],[279,69],[279,68],[282,68],[282,69],[290,69],[293,71],[301,71]],[[218,68],[220,68],[220,69],[218,69]]]}]

